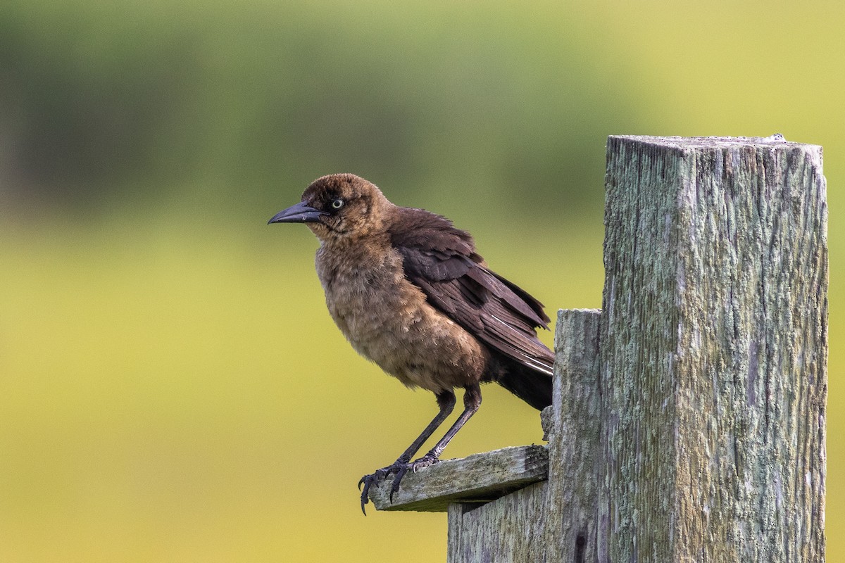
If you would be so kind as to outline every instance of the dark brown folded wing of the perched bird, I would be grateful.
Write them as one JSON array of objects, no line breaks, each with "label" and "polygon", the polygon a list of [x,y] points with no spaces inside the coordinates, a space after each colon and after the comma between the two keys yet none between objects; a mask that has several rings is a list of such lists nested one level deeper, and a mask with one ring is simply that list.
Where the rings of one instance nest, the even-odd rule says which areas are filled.
[{"label": "dark brown folded wing of the perched bird", "polygon": [[390,235],[406,279],[484,344],[551,375],[554,356],[535,333],[547,328],[542,303],[490,271],[475,252],[472,236],[449,219],[421,209],[402,211]]}]

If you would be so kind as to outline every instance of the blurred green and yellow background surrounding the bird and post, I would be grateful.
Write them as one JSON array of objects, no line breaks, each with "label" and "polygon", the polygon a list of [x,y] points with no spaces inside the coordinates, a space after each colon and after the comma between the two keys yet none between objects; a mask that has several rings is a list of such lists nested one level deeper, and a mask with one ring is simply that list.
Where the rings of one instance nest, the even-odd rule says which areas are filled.
[{"label": "blurred green and yellow background surrounding the bird and post", "polygon": [[[445,559],[441,514],[357,479],[433,415],[332,325],[303,227],[352,171],[597,307],[609,134],[824,146],[828,556],[845,558],[839,2],[0,8],[0,560]],[[551,333],[544,337],[551,343]],[[540,441],[498,387],[446,451]]]}]

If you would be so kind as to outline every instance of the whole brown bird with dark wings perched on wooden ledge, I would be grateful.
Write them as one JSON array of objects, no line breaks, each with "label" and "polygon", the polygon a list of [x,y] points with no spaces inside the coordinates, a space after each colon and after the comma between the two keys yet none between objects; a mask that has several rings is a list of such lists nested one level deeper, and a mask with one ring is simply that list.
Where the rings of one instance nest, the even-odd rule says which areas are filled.
[{"label": "whole brown bird with dark wings perched on wooden ledge", "polygon": [[[305,223],[320,241],[317,275],[326,305],[358,354],[407,387],[437,398],[439,413],[391,465],[365,475],[370,486],[437,463],[444,447],[481,405],[480,383],[497,382],[536,409],[552,403],[554,355],[537,338],[548,328],[542,304],[494,273],[472,236],[424,209],[394,205],[352,174],[323,176],[302,202],[269,223]],[[411,461],[455,407],[464,411],[423,457]],[[366,514],[366,512],[365,512]]]}]

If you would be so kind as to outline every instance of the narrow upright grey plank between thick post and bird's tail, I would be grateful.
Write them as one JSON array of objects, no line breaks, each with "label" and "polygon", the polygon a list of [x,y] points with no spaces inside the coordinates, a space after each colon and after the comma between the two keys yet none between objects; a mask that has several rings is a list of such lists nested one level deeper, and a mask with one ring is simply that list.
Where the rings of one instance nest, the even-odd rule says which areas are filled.
[{"label": "narrow upright grey plank between thick post and bird's tail", "polygon": [[[601,311],[559,311],[548,429],[546,561],[597,560],[602,401],[598,334]],[[607,517],[607,515],[604,515]]]}]

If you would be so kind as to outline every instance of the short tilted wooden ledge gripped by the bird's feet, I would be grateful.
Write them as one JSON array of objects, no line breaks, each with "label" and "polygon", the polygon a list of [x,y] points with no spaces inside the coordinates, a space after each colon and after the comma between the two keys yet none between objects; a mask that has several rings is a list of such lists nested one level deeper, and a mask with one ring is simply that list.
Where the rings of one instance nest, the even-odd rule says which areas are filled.
[{"label": "short tilted wooden ledge gripped by the bird's feet", "polygon": [[452,502],[489,502],[548,476],[542,446],[505,447],[460,459],[446,459],[408,473],[390,502],[392,479],[370,490],[377,510],[446,512]]}]

